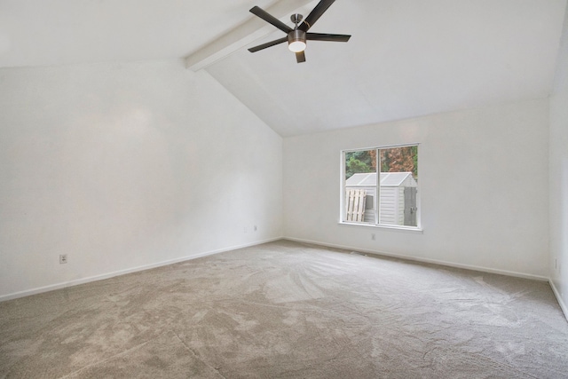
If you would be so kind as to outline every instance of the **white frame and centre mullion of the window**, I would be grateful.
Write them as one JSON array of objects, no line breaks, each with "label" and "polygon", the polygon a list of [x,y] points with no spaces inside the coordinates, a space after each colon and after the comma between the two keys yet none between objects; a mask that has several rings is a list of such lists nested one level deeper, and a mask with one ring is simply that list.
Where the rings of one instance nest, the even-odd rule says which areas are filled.
[{"label": "white frame and centre mullion of the window", "polygon": [[390,149],[390,148],[397,148],[397,147],[410,147],[416,146],[417,147],[417,155],[418,161],[420,162],[420,151],[421,151],[421,144],[418,142],[409,143],[409,144],[400,144],[400,145],[385,145],[385,146],[373,146],[373,147],[360,147],[354,149],[343,149],[339,154],[340,160],[340,201],[339,201],[339,225],[351,225],[351,226],[367,226],[373,228],[382,228],[382,229],[392,229],[398,231],[408,231],[408,232],[419,232],[422,233],[422,204],[421,204],[421,181],[416,181],[416,226],[408,226],[408,225],[390,225],[390,224],[380,224],[380,203],[381,203],[381,154],[376,154],[376,168],[377,168],[377,175],[376,175],[376,195],[375,199],[373,200],[375,203],[375,222],[352,222],[352,221],[345,221],[345,157],[347,153],[352,152],[359,152],[359,151],[369,151],[369,150],[383,150],[383,149]]}]

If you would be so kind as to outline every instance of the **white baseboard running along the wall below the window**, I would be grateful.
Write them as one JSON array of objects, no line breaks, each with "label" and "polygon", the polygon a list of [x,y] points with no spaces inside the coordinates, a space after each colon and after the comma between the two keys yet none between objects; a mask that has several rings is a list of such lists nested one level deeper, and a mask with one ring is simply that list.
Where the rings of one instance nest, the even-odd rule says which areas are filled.
[{"label": "white baseboard running along the wall below the window", "polygon": [[549,280],[545,276],[533,275],[531,273],[498,270],[498,269],[476,266],[476,265],[461,265],[461,264],[456,264],[454,262],[447,262],[447,261],[442,261],[442,260],[438,260],[438,259],[427,259],[427,258],[421,258],[421,257],[412,257],[412,256],[406,256],[404,254],[393,254],[393,253],[388,253],[388,252],[380,251],[380,250],[359,249],[359,248],[353,248],[352,246],[336,245],[336,244],[333,244],[333,243],[327,243],[327,242],[321,242],[321,241],[302,240],[302,239],[299,239],[299,238],[290,238],[290,237],[284,237],[284,240],[303,242],[303,243],[311,243],[313,245],[326,246],[328,248],[360,251],[360,252],[367,253],[367,254],[373,254],[375,256],[400,258],[400,259],[406,259],[406,260],[409,260],[409,261],[422,262],[422,263],[426,263],[426,264],[444,265],[444,266],[448,266],[448,267],[462,268],[462,269],[465,269],[465,270],[473,270],[473,271],[479,271],[479,272],[498,273],[498,274],[501,274],[501,275],[514,276],[514,277],[517,277],[517,278],[525,278],[525,279],[540,280],[540,281],[548,281]]}]

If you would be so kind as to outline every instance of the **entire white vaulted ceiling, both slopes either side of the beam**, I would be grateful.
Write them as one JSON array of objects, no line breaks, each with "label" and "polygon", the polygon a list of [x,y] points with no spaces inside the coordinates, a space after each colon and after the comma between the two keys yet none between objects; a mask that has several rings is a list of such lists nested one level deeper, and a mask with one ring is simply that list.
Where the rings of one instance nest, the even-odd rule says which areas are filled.
[{"label": "entire white vaulted ceiling, both slopes either side of the beam", "polygon": [[[253,5],[274,3],[0,0],[0,67],[187,57],[255,19]],[[302,64],[286,43],[254,54],[238,46],[206,69],[282,136],[542,98],[552,88],[565,5],[338,0],[311,31],[351,34],[349,43],[309,42]],[[246,47],[284,36],[264,28],[272,29]]]}]

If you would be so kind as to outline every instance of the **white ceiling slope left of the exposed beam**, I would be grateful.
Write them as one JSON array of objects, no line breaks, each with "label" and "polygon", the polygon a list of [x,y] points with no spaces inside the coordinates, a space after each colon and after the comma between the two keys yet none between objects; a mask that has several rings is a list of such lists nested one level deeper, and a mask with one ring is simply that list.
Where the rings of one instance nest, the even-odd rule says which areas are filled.
[{"label": "white ceiling slope left of the exposed beam", "polygon": [[0,67],[183,58],[274,0],[0,0]]}]

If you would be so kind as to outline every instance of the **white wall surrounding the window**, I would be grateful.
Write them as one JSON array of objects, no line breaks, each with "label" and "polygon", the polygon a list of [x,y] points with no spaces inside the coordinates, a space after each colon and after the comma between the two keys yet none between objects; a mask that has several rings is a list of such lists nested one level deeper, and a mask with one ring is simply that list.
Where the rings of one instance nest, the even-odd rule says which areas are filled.
[{"label": "white wall surrounding the window", "polygon": [[[423,233],[338,225],[340,150],[414,142]],[[284,209],[291,239],[548,277],[548,99],[285,138]]]}]

